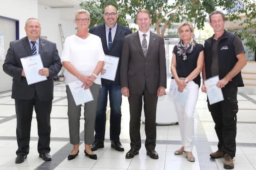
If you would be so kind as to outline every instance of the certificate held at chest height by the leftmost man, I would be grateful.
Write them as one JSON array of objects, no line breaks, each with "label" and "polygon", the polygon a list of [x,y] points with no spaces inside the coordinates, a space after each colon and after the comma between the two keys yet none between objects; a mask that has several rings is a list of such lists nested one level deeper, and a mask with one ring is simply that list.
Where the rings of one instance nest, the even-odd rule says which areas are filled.
[{"label": "certificate held at chest height by the leftmost man", "polygon": [[46,76],[39,75],[39,70],[43,68],[40,54],[24,57],[20,59],[28,85],[47,80]]}]

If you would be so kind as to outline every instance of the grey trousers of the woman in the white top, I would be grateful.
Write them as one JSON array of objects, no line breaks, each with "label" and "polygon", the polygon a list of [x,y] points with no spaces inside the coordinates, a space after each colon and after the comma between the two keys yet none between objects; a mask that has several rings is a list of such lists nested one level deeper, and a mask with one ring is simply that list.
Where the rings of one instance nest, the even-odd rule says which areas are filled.
[{"label": "grey trousers of the woman in the white top", "polygon": [[[94,124],[96,119],[97,104],[99,99],[100,85],[93,83],[90,87],[93,101],[85,103],[85,144],[92,144],[94,141]],[[81,106],[76,106],[70,88],[66,86],[68,98],[68,125],[71,144],[79,144]]]}]

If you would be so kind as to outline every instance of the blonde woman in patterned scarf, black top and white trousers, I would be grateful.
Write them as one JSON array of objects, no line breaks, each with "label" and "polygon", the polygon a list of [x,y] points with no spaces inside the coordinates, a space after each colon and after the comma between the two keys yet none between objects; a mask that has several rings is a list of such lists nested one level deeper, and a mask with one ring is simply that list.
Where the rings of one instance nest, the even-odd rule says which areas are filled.
[{"label": "blonde woman in patterned scarf, black top and white trousers", "polygon": [[203,68],[203,45],[194,39],[194,28],[191,22],[185,21],[178,27],[179,38],[175,45],[171,60],[171,83],[178,87],[178,91],[188,96],[185,104],[174,100],[178,114],[182,146],[175,151],[175,155],[186,153],[188,161],[194,162],[192,154],[194,143],[194,111],[200,87],[200,72]]}]

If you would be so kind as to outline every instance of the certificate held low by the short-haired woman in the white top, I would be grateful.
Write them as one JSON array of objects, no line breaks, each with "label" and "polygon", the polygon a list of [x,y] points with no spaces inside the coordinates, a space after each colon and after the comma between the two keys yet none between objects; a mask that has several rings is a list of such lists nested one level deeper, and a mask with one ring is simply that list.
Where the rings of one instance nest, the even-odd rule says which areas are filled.
[{"label": "certificate held low by the short-haired woman in the white top", "polygon": [[82,85],[83,83],[80,80],[68,84],[77,106],[93,100],[90,89],[85,90]]}]

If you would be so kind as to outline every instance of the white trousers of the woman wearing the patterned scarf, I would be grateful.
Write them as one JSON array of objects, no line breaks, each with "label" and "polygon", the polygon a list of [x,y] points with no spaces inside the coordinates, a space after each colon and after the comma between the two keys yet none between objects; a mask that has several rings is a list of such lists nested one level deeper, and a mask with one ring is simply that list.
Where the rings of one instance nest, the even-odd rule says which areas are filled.
[{"label": "white trousers of the woman wearing the patterned scarf", "polygon": [[[176,81],[172,79],[171,83],[176,84]],[[190,81],[184,90],[189,91],[185,105],[181,106],[175,100],[174,105],[179,120],[182,146],[184,146],[184,151],[192,152],[194,144],[194,112],[198,99],[198,84]]]}]

